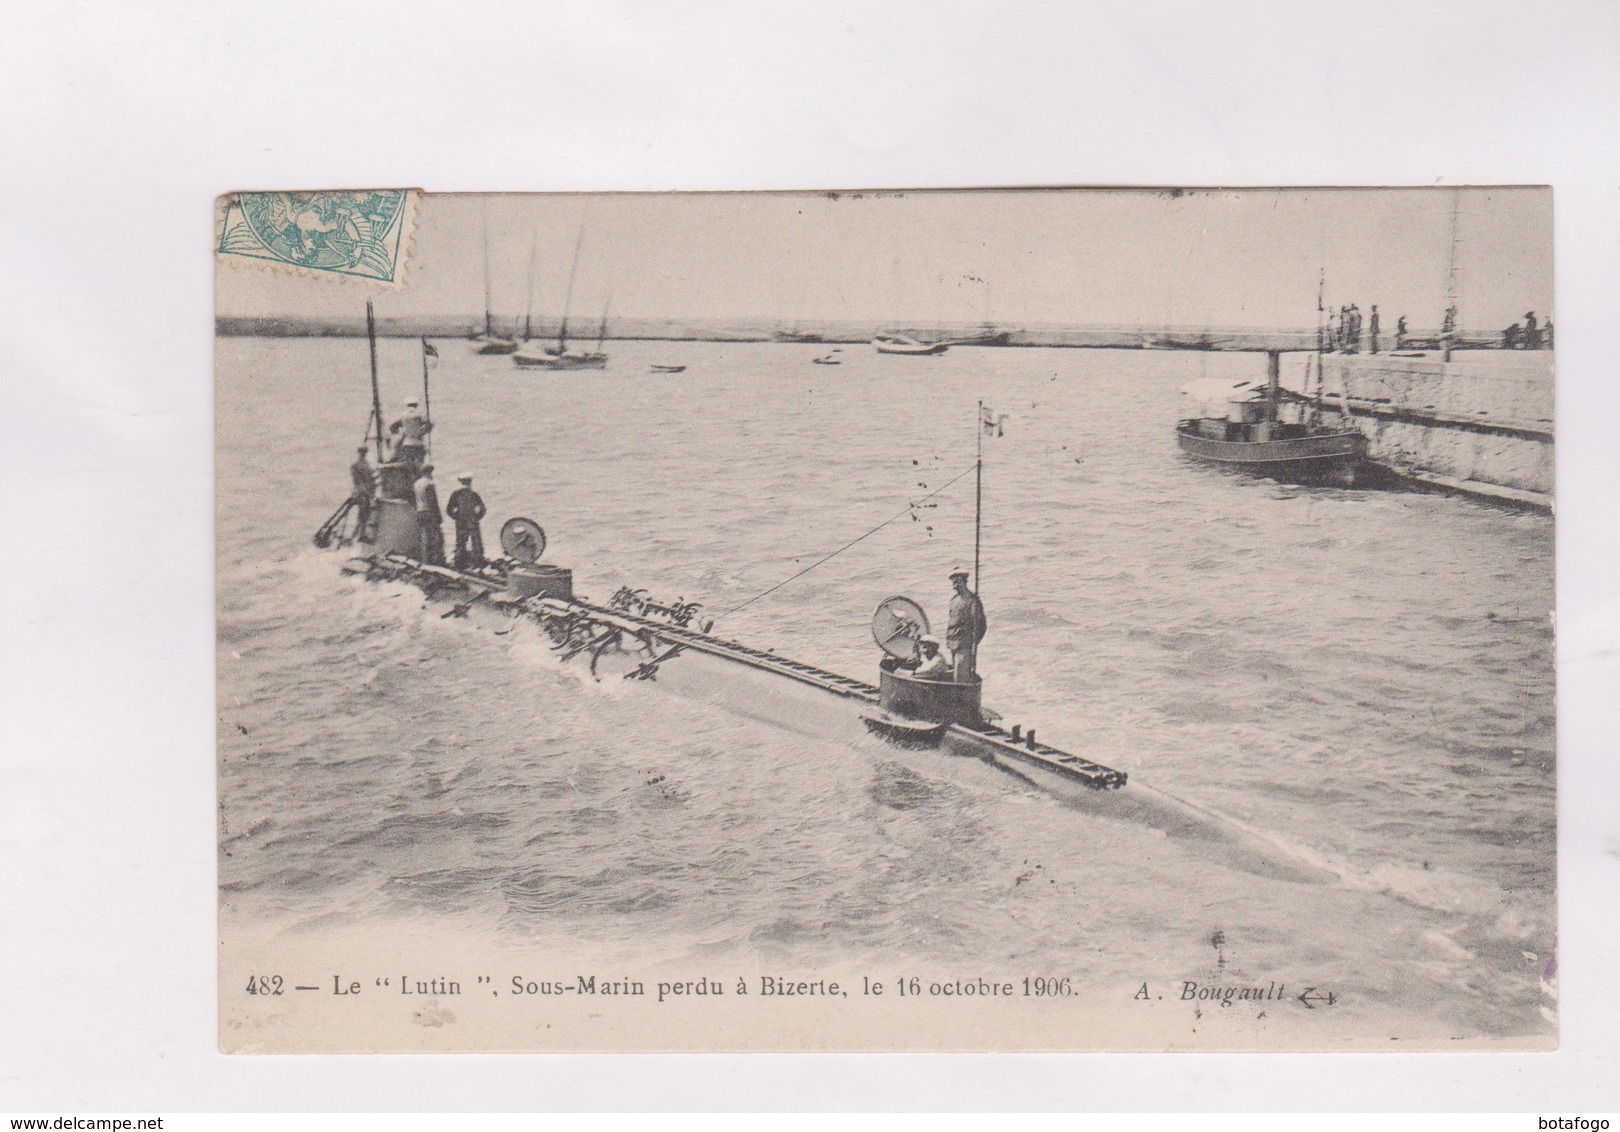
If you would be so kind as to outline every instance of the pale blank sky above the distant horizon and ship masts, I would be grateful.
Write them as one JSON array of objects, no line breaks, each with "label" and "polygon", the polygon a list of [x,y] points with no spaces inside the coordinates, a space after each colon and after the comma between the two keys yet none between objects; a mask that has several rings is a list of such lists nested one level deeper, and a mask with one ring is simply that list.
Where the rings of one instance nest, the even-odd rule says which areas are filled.
[{"label": "pale blank sky above the distant horizon and ship masts", "polygon": [[[1455,228],[1455,261],[1453,261]],[[1552,309],[1552,193],[983,189],[428,194],[405,287],[225,266],[220,316],[1311,327],[1377,303],[1435,327]],[[578,246],[578,269],[572,270]],[[531,270],[533,264],[533,270]],[[573,296],[569,301],[569,279]],[[533,282],[531,282],[533,280]]]}]

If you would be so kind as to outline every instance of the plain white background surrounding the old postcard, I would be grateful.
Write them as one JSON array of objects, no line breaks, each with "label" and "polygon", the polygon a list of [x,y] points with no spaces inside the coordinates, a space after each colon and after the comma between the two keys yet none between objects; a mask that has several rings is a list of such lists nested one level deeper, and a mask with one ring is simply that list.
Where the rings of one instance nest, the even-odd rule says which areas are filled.
[{"label": "plain white background surrounding the old postcard", "polygon": [[[31,3],[0,107],[0,1111],[1615,1108],[1620,6]],[[1560,1053],[215,1053],[215,194],[1379,183],[1555,186]]]}]

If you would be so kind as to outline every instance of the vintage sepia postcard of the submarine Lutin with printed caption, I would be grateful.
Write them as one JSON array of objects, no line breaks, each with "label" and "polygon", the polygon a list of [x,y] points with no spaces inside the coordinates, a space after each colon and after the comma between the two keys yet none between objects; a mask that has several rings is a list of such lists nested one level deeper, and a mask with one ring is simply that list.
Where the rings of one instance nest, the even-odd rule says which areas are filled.
[{"label": "vintage sepia postcard of the submarine Lutin with printed caption", "polygon": [[1552,194],[241,193],[220,1045],[1557,1045]]}]

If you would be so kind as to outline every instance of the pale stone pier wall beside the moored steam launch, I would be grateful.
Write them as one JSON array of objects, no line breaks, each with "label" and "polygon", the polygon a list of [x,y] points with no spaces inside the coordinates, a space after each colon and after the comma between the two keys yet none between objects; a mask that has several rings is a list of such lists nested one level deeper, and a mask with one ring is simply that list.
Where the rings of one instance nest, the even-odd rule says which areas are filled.
[{"label": "pale stone pier wall beside the moored steam launch", "polygon": [[1448,487],[1550,505],[1552,355],[1328,355],[1328,403],[1349,398],[1371,457]]}]

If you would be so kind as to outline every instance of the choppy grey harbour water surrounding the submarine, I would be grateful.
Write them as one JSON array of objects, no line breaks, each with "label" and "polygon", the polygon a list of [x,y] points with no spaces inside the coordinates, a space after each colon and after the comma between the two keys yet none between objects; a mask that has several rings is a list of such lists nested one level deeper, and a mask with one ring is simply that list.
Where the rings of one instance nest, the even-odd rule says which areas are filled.
[{"label": "choppy grey harbour water surrounding the submarine", "polygon": [[[369,408],[358,340],[224,340],[220,879],[240,921],[413,918],[642,954],[1209,973],[1345,994],[1367,1028],[1550,1030],[1552,521],[1186,463],[1174,390],[1259,358],[620,343],[518,372],[441,343],[441,483],[538,518],[577,589],[729,609],[985,444],[987,703],[1327,863],[1293,884],[990,768],[593,683],[339,575],[309,534]],[[420,381],[384,342],[386,411]],[[650,363],[685,364],[676,376]],[[867,622],[943,620],[972,475],[718,632],[873,679]],[[441,489],[444,491],[444,489]],[[486,525],[492,539],[494,523]]]}]

